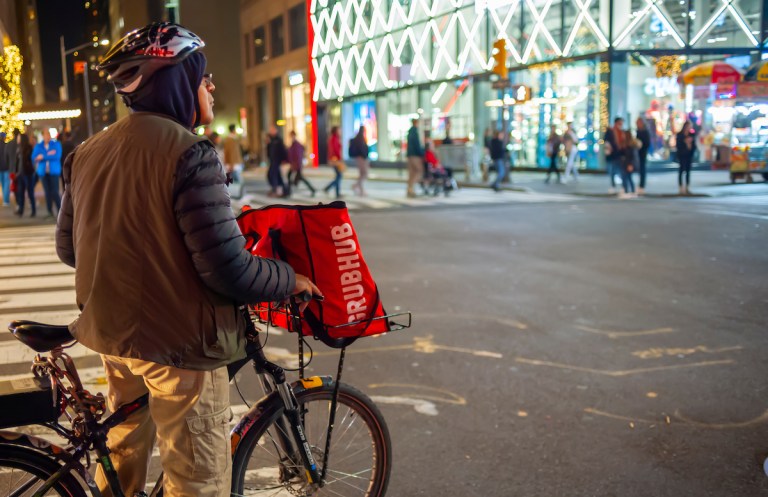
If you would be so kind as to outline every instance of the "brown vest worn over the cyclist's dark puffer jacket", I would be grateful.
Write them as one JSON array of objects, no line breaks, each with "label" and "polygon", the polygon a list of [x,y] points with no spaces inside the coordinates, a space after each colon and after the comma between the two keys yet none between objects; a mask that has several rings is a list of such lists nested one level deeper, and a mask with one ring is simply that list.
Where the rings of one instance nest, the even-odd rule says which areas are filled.
[{"label": "brown vest worn over the cyclist's dark puffer jacket", "polygon": [[205,140],[132,114],[78,147],[72,164],[72,333],[108,355],[210,370],[244,354],[235,303],[208,290],[176,223],[179,157]]}]

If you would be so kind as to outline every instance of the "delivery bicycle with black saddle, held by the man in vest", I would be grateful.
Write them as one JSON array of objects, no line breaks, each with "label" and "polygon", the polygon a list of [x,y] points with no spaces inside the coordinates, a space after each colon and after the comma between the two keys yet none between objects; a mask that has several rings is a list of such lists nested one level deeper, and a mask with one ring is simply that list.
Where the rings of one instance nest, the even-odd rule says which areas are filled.
[{"label": "delivery bicycle with black saddle, held by the man in vest", "polygon": [[[296,305],[290,304],[286,312],[289,323],[299,326],[293,329],[300,330]],[[247,317],[247,357],[228,367],[229,377],[232,380],[250,362],[265,395],[231,432],[232,495],[383,497],[392,468],[389,430],[368,396],[340,382],[344,348],[336,379],[304,378],[305,342],[299,334],[299,379],[288,383],[285,370],[264,355],[255,326],[263,320],[244,306],[241,311]],[[407,324],[391,322],[393,329],[402,329],[410,327],[410,313],[385,318],[405,315]],[[109,457],[107,433],[145,408],[148,395],[120,406],[102,420],[106,415],[103,395],[83,388],[75,364],[65,352],[75,341],[67,326],[14,321],[9,330],[38,354],[32,365],[34,388],[19,406],[22,415],[0,414],[0,428],[40,424],[68,444],[60,447],[33,435],[0,431],[0,497],[81,497],[86,490],[99,496],[89,472],[94,454],[112,494],[124,497]],[[25,410],[25,405],[34,412]],[[69,428],[59,422],[62,416]],[[162,495],[162,474],[148,495]],[[141,496],[147,494],[135,494]]]}]

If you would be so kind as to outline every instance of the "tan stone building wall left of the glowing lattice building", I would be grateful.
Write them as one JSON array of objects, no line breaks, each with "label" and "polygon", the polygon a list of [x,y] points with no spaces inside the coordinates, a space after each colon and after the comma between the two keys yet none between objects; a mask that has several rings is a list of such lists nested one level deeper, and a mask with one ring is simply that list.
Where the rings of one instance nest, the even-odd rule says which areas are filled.
[{"label": "tan stone building wall left of the glowing lattice building", "polygon": [[[254,152],[253,157],[264,159],[264,135],[270,126],[276,126],[285,137],[290,131],[296,131],[299,139],[304,142],[307,150],[312,150],[310,126],[304,119],[309,113],[308,65],[309,54],[306,45],[306,24],[298,27],[291,24],[291,9],[306,9],[302,0],[244,0],[240,8],[240,45],[241,61],[244,67],[243,82],[245,86],[245,102],[248,114],[248,144]],[[298,10],[297,10],[298,11]],[[294,11],[294,12],[297,12]],[[283,44],[281,55],[274,56],[272,21],[278,17],[283,19]],[[306,22],[306,15],[304,15]],[[254,31],[264,29],[263,57],[261,61]],[[292,30],[300,30],[304,43],[291,49]],[[296,33],[298,34],[298,33]],[[301,74],[302,82],[289,81],[289,74]],[[279,81],[280,91],[277,83]],[[261,95],[261,98],[259,97]],[[260,102],[261,101],[261,102]],[[291,119],[290,116],[294,118]]]}]

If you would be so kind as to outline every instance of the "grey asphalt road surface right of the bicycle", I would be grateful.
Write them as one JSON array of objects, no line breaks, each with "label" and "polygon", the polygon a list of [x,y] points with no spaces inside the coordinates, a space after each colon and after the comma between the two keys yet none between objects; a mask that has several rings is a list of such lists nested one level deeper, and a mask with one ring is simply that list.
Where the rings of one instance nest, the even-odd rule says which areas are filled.
[{"label": "grey asphalt road surface right of the bicycle", "polygon": [[414,315],[350,348],[345,369],[388,420],[388,495],[768,493],[764,206],[598,200],[353,221],[384,304]]}]

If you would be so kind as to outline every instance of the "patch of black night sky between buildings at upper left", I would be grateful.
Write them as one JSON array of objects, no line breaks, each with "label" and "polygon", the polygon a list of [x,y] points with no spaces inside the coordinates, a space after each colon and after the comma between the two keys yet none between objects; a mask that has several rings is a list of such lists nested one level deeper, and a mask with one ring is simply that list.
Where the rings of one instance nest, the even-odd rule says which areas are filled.
[{"label": "patch of black night sky between buildings at upper left", "polygon": [[[46,100],[59,100],[61,86],[61,51],[59,37],[64,35],[67,49],[88,41],[85,33],[85,9],[82,0],[37,0],[37,18],[40,24],[40,50],[43,58],[43,79]],[[68,75],[73,85],[72,56]]]}]

